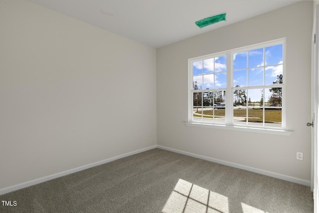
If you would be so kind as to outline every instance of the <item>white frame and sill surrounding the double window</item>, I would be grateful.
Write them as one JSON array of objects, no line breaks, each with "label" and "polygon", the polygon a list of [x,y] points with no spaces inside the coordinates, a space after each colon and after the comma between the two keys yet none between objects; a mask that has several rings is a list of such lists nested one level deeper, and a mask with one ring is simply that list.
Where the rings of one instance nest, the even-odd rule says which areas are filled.
[{"label": "white frame and sill surrounding the double window", "polygon": [[[266,126],[255,126],[255,125],[240,125],[233,123],[233,54],[237,52],[249,51],[258,48],[264,48],[268,46],[273,46],[277,44],[283,44],[283,84],[282,87],[282,127],[266,127]],[[226,79],[227,87],[226,89],[226,109],[225,109],[225,123],[205,123],[193,121],[193,62],[198,60],[205,60],[213,57],[226,55]],[[268,65],[267,65],[268,66]],[[248,76],[247,76],[248,77]],[[277,135],[291,135],[292,131],[286,129],[286,38],[276,39],[273,41],[267,41],[259,44],[249,45],[245,47],[240,47],[236,49],[231,49],[227,51],[222,51],[218,53],[213,53],[205,56],[195,57],[188,59],[188,122],[185,122],[186,126],[196,126],[196,127],[209,127],[218,129],[229,129],[229,130],[239,130],[247,132],[258,132],[267,134],[277,134]],[[268,88],[267,85],[263,86],[246,86],[241,87],[241,89],[254,89],[254,88]],[[220,89],[222,90],[222,89]],[[207,90],[196,90],[198,92],[207,92]]]}]

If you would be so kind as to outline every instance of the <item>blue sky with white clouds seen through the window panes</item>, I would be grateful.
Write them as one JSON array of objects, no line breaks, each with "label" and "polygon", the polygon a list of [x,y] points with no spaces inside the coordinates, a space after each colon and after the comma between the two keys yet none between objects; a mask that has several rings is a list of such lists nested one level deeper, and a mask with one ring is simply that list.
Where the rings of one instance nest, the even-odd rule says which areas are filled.
[{"label": "blue sky with white clouds seen through the window panes", "polygon": [[[234,53],[233,59],[232,86],[263,85],[264,74],[265,85],[271,85],[276,81],[277,75],[283,73],[282,44]],[[226,88],[226,56],[193,62],[193,81],[197,82],[199,89]],[[261,98],[259,90],[249,90],[248,93],[252,101],[259,101]],[[268,97],[267,93],[265,97]]]}]

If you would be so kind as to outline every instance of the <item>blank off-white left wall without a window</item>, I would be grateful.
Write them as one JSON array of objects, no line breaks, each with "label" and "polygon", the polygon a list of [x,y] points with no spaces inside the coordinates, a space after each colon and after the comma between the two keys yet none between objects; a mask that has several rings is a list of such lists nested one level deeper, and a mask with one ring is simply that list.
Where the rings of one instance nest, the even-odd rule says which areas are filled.
[{"label": "blank off-white left wall without a window", "polygon": [[156,116],[155,48],[0,0],[0,189],[156,145]]}]

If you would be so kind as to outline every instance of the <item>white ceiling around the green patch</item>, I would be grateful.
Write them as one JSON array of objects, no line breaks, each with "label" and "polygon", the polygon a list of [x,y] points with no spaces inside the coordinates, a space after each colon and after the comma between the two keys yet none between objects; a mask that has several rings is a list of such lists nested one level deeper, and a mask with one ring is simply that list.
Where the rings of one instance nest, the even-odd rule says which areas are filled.
[{"label": "white ceiling around the green patch", "polygon": [[[300,0],[29,0],[159,48]],[[227,13],[204,28],[195,21]]]}]

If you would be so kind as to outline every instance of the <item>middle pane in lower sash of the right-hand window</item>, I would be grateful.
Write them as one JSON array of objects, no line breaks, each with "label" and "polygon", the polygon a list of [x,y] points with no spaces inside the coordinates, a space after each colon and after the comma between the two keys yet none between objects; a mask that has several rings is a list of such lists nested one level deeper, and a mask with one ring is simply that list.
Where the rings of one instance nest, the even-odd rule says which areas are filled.
[{"label": "middle pane in lower sash of the right-hand window", "polygon": [[260,100],[263,97],[263,89],[248,90],[248,124],[263,126],[264,111],[263,105],[260,107]]}]

